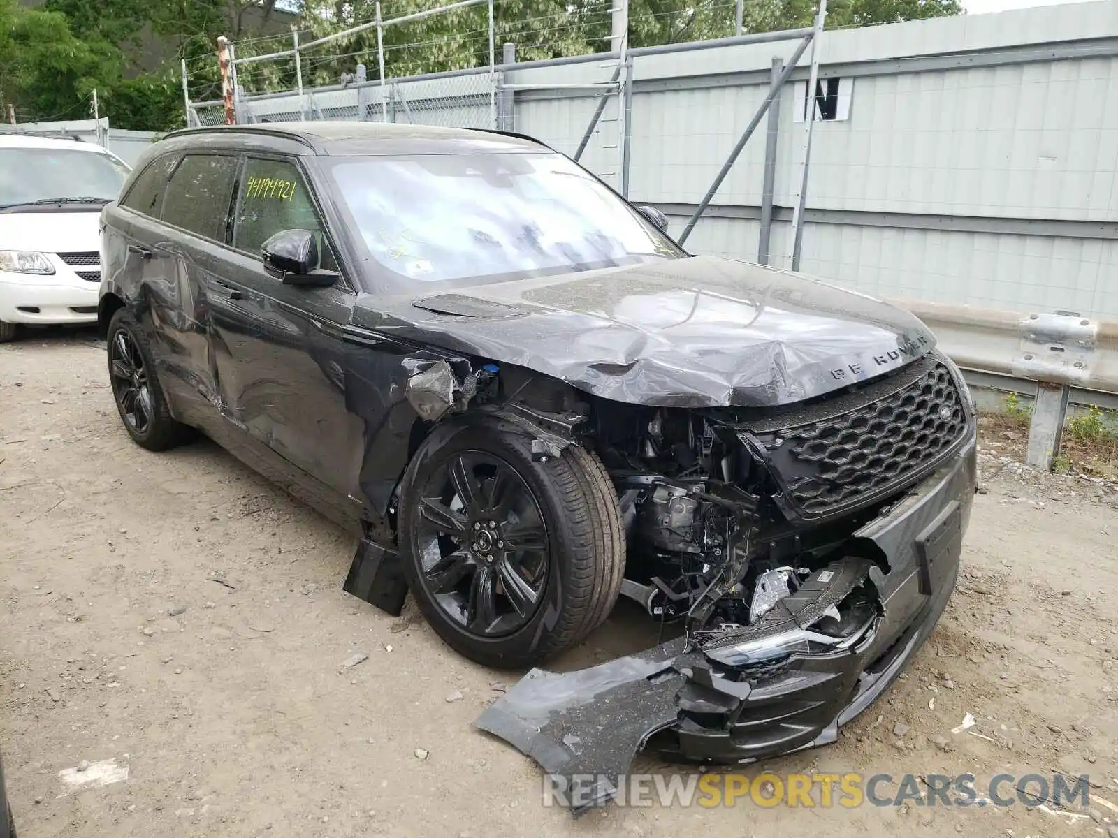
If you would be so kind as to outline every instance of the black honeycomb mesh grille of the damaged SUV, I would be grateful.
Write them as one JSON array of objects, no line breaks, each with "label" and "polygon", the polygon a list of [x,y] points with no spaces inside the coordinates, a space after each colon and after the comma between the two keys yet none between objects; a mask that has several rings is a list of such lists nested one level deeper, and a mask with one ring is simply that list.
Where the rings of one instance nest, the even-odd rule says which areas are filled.
[{"label": "black honeycomb mesh grille of the damaged SUV", "polygon": [[882,398],[768,436],[786,499],[805,517],[855,506],[935,464],[967,429],[948,369],[936,363]]}]

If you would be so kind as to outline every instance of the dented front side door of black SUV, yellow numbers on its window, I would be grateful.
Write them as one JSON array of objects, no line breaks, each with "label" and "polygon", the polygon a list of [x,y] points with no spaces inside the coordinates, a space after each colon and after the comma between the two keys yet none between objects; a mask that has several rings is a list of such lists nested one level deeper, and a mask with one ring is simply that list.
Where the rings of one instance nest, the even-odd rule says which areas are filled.
[{"label": "dented front side door of black SUV, yellow numbers on its window", "polygon": [[301,472],[348,494],[339,460],[360,448],[362,428],[347,409],[341,335],[356,294],[344,279],[326,288],[284,285],[260,258],[274,234],[309,229],[319,234],[320,267],[337,269],[319,219],[293,160],[246,159],[210,330],[230,418]]}]

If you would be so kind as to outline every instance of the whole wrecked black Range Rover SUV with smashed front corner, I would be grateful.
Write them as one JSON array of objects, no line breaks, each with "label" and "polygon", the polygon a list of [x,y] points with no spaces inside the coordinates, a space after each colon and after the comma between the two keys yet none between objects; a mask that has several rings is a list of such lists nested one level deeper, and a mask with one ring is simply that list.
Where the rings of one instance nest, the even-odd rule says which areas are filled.
[{"label": "whole wrecked black Range Rover SUV with smashed front corner", "polygon": [[177,132],[103,215],[121,418],[350,527],[347,589],[410,591],[482,664],[541,661],[618,596],[682,626],[480,720],[549,768],[603,766],[595,703],[624,702],[610,759],[830,741],[951,591],[970,399],[911,315],[665,227],[518,135]]}]

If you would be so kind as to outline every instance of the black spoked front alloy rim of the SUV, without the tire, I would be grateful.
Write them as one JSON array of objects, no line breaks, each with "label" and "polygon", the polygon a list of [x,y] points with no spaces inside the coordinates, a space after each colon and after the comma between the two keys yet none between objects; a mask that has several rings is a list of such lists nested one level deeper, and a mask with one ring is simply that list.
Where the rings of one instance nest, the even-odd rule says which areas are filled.
[{"label": "black spoked front alloy rim of the SUV, without the tire", "polygon": [[528,484],[508,463],[457,451],[427,479],[416,546],[421,583],[471,635],[523,628],[548,577],[548,532]]}]

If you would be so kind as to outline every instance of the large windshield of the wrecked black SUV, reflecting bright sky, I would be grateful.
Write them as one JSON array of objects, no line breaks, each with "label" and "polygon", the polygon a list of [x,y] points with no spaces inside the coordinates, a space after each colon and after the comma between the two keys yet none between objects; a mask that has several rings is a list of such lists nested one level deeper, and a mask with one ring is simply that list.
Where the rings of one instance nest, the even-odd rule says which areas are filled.
[{"label": "large windshield of the wrecked black SUV, reflecting bright sky", "polygon": [[685,255],[553,152],[348,159],[332,174],[369,254],[411,282],[509,279]]}]

